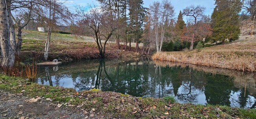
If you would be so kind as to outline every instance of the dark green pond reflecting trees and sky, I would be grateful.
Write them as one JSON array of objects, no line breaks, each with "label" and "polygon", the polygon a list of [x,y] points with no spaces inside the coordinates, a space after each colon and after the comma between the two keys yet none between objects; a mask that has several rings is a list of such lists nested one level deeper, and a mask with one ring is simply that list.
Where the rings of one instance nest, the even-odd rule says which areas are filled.
[{"label": "dark green pond reflecting trees and sky", "polygon": [[86,60],[39,67],[42,85],[98,88],[138,97],[175,96],[179,103],[256,108],[256,74],[141,58]]}]

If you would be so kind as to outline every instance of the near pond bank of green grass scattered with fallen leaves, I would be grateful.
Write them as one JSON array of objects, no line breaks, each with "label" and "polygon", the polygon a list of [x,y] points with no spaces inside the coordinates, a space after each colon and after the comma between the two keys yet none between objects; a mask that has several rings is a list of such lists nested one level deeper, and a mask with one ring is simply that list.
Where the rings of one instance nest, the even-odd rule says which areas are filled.
[{"label": "near pond bank of green grass scattered with fallen leaves", "polygon": [[[172,97],[165,97],[163,99],[151,97],[141,98],[115,92],[102,92],[95,89],[76,92],[72,88],[39,85],[28,82],[26,79],[4,75],[0,76],[0,81],[0,90],[11,92],[11,95],[18,95],[18,97],[27,96],[27,103],[30,103],[30,105],[36,106],[38,102],[40,103],[42,101],[42,103],[46,102],[47,105],[51,104],[48,108],[52,108],[53,110],[55,108],[59,110],[63,110],[64,108],[67,111],[78,110],[76,112],[82,115],[77,116],[82,116],[83,118],[256,118],[255,109],[173,103]],[[0,101],[7,102],[12,98],[6,99],[6,97],[1,96]],[[32,110],[28,110],[25,114],[30,114],[28,116],[33,117],[34,113],[30,111]],[[1,109],[1,119],[15,117],[6,114],[7,112]],[[22,112],[17,113],[21,113],[20,115],[22,115]],[[61,116],[60,118],[78,118],[72,117],[75,115],[71,114],[63,114]]]}]

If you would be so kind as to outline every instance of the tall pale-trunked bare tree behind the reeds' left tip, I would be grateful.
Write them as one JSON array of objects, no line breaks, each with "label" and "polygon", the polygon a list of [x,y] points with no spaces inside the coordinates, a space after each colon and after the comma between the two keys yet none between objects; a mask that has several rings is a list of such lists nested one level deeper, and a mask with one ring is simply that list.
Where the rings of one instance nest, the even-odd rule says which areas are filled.
[{"label": "tall pale-trunked bare tree behind the reeds' left tip", "polygon": [[[154,2],[153,5],[150,5],[150,13],[156,35],[156,51],[161,52],[166,27],[169,25],[174,15],[173,5],[169,0],[162,0],[161,4],[160,2]],[[159,30],[161,31],[160,34]]]}]

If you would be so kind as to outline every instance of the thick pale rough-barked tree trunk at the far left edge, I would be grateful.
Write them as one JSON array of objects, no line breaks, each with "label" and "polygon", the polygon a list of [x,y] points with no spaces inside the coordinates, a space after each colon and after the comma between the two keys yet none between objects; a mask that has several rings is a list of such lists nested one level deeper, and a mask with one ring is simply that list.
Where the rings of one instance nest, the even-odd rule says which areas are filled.
[{"label": "thick pale rough-barked tree trunk at the far left edge", "polygon": [[14,64],[14,53],[10,43],[9,16],[6,0],[0,0],[0,43],[3,52],[2,67],[11,68]]}]

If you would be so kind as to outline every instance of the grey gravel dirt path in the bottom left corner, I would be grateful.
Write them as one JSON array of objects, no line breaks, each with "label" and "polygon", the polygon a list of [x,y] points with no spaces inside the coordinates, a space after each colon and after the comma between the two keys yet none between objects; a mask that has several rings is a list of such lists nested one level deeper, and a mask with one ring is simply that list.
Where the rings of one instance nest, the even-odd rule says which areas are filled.
[{"label": "grey gravel dirt path in the bottom left corner", "polygon": [[102,119],[109,118],[100,113],[85,115],[78,108],[61,106],[46,99],[27,102],[29,98],[22,94],[12,94],[0,90],[0,119]]}]

